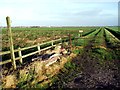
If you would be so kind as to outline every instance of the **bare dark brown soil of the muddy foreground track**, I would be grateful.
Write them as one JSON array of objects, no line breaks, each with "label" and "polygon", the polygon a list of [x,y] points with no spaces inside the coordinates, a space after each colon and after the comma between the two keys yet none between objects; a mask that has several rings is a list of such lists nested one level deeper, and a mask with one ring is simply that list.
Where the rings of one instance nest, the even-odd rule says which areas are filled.
[{"label": "bare dark brown soil of the muddy foreground track", "polygon": [[[60,81],[57,81],[50,88],[95,88],[95,89],[117,89],[120,88],[120,60],[102,60],[101,57],[96,57],[93,53],[94,40],[84,48],[82,55],[76,56],[72,63],[76,65],[76,69],[80,68],[81,71],[74,70],[70,72],[69,78],[73,78],[71,81],[64,81],[66,76],[61,76]],[[103,48],[104,49],[104,48]],[[105,49],[106,50],[106,49]],[[111,50],[113,51],[113,50]],[[110,52],[110,51],[107,51]],[[120,54],[119,54],[120,55]],[[62,73],[62,72],[61,72]],[[64,73],[62,73],[64,74]],[[68,79],[69,79],[68,78]],[[62,81],[62,80],[63,81]]]}]

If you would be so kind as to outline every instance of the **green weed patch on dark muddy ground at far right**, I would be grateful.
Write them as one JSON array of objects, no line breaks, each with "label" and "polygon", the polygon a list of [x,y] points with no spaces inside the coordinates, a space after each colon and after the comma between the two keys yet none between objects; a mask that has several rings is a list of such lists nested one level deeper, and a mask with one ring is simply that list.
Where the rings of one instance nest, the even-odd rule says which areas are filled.
[{"label": "green weed patch on dark muddy ground at far right", "polygon": [[104,66],[106,63],[114,64],[113,61],[118,59],[118,55],[113,50],[105,50],[101,48],[92,49],[91,53],[101,66]]}]

